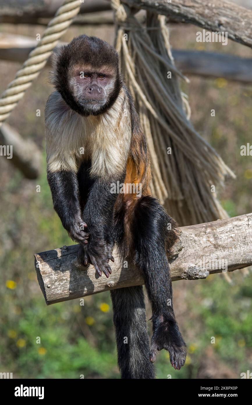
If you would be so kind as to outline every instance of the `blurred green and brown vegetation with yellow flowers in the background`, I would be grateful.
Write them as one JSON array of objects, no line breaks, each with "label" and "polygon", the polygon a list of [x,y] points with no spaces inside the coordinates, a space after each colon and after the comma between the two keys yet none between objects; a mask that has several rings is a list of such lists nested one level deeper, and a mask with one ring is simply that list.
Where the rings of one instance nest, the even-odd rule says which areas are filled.
[{"label": "blurred green and brown vegetation with yellow flowers in the background", "polygon": [[[35,34],[42,28],[33,30]],[[99,30],[85,32],[104,38],[104,28]],[[104,39],[112,43],[112,31],[106,30]],[[191,26],[172,28],[173,46],[199,49],[197,30]],[[17,33],[17,28],[13,32]],[[28,27],[18,32],[32,36]],[[78,33],[77,28],[71,28],[63,39],[70,40]],[[245,47],[231,41],[227,47],[219,45],[207,48],[201,44],[206,50],[248,55]],[[17,68],[19,64],[0,63],[0,77],[4,77],[0,90]],[[44,70],[8,120],[42,150],[43,109],[51,92],[47,77]],[[251,212],[252,157],[240,155],[241,145],[251,142],[251,86],[222,78],[191,78],[191,83],[182,87],[189,94],[195,127],[237,175],[218,190],[223,207],[231,216]],[[41,117],[36,117],[36,109],[41,109]],[[211,117],[211,109],[215,109],[215,117]],[[47,307],[38,286],[33,254],[72,244],[53,211],[45,153],[42,174],[36,181],[24,179],[3,158],[0,172],[0,371],[21,378],[119,378],[109,293],[85,298],[84,306],[74,300]],[[36,192],[36,185],[40,185],[40,192]],[[241,372],[252,369],[252,277],[247,273],[231,273],[231,285],[219,274],[173,284],[175,311],[188,357],[185,367],[176,371],[167,352],[160,352],[158,378],[239,378]],[[149,319],[148,304],[147,315]],[[215,343],[211,343],[213,338]]]}]

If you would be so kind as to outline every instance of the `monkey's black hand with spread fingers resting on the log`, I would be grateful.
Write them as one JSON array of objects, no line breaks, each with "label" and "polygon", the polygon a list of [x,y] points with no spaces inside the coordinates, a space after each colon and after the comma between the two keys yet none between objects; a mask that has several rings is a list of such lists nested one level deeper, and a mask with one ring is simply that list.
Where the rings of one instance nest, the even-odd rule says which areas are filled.
[{"label": "monkey's black hand with spread fingers resting on the log", "polygon": [[102,272],[108,278],[112,273],[108,262],[111,260],[114,262],[112,256],[112,245],[106,241],[100,241],[97,243],[87,243],[85,246],[81,246],[78,252],[79,263],[87,266],[87,264],[93,264],[97,274],[102,275]]}]

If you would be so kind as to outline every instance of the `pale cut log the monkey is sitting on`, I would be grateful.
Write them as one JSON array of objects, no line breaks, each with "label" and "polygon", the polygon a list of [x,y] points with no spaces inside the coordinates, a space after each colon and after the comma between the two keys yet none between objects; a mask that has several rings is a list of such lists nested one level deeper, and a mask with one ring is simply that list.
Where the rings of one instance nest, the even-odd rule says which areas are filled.
[{"label": "pale cut log the monkey is sitting on", "polygon": [[[38,282],[46,303],[53,304],[115,288],[143,284],[140,272],[122,261],[116,249],[112,274],[97,277],[93,266],[78,264],[79,245],[35,254]],[[195,280],[252,264],[252,213],[227,220],[184,226],[169,258],[172,280]],[[155,269],[153,269],[155,271]]]}]

